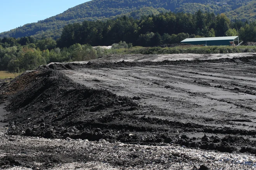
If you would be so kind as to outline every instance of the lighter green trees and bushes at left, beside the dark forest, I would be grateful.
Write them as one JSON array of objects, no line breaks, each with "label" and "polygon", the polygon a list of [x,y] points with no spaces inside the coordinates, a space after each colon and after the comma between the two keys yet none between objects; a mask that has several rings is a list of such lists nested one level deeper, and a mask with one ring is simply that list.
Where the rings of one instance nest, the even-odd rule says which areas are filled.
[{"label": "lighter green trees and bushes at left, beside the dark forest", "polygon": [[[102,49],[97,49],[100,54]],[[36,40],[31,37],[0,39],[0,71],[34,70],[51,62],[84,61],[97,58],[97,50],[90,45],[73,44],[58,48],[52,38]]]}]

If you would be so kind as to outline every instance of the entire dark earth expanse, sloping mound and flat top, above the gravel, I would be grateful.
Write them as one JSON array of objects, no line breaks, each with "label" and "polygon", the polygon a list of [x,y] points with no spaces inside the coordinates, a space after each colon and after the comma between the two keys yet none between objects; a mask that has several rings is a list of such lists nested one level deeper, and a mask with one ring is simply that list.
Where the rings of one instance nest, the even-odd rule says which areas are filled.
[{"label": "entire dark earth expanse, sloping mound and flat top, above the gravel", "polygon": [[[97,61],[42,66],[4,83],[0,103],[10,112],[3,121],[9,122],[7,134],[256,153],[255,54]],[[64,163],[81,161],[80,155],[68,155]],[[0,166],[28,167],[15,163],[24,159],[3,156]],[[44,168],[54,160],[47,163]]]}]

